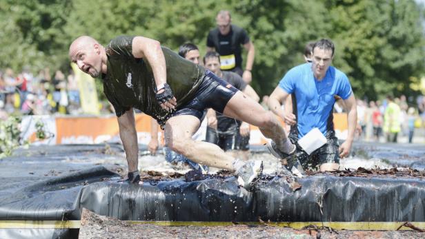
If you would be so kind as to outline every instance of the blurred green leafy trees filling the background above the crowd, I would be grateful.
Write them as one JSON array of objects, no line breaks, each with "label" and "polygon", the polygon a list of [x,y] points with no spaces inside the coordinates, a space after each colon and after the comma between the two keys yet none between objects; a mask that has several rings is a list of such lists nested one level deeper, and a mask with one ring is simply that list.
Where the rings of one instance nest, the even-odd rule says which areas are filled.
[{"label": "blurred green leafy trees filling the background above the crowd", "polygon": [[358,97],[417,94],[424,75],[424,6],[413,0],[0,0],[0,69],[23,65],[69,68],[68,46],[83,34],[107,44],[119,34],[143,35],[173,50],[188,41],[206,49],[218,10],[228,9],[256,49],[253,87],[270,94],[302,63],[308,41],[330,38],[333,64]]}]

